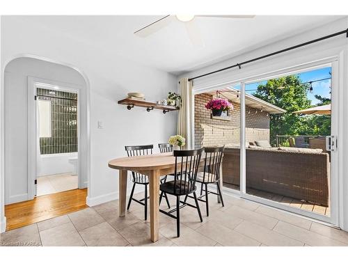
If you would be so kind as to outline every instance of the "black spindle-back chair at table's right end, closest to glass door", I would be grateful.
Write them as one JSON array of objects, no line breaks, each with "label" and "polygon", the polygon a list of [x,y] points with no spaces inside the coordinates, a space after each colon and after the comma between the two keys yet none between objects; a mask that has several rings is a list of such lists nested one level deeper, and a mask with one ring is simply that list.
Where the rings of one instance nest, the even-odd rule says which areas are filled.
[{"label": "black spindle-back chair at table's right end, closest to glass door", "polygon": [[[207,209],[207,216],[209,216],[209,202],[208,202],[208,195],[209,193],[212,193],[214,195],[219,196],[221,200],[221,204],[224,207],[223,204],[223,198],[220,188],[220,167],[222,164],[222,158],[223,158],[223,151],[225,150],[223,147],[205,147],[205,160],[204,160],[204,168],[203,172],[198,172],[197,174],[197,180],[196,182],[200,183],[200,196],[198,197],[198,200],[205,202],[205,206]],[[217,193],[213,191],[208,191],[208,184],[216,184],[216,191]],[[204,189],[203,189],[204,185]],[[205,191],[205,195],[203,195],[203,191]],[[191,196],[186,196],[185,202],[187,198],[192,198]],[[205,197],[205,200],[202,198]]]}]

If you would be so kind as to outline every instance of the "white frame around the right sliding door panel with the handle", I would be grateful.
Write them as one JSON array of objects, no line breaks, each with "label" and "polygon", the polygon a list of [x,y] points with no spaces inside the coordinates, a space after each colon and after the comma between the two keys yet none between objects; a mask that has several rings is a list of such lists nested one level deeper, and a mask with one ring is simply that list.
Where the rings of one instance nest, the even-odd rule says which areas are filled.
[{"label": "white frame around the right sliding door panel with the handle", "polygon": [[[335,151],[331,152],[331,169],[330,169],[330,177],[329,180],[330,184],[330,207],[331,207],[331,213],[330,216],[324,216],[322,214],[317,214],[315,212],[309,212],[303,209],[299,209],[296,207],[290,207],[288,205],[283,205],[281,203],[275,202],[273,200],[269,200],[266,198],[260,198],[258,196],[253,196],[248,193],[246,193],[246,145],[245,145],[245,86],[246,84],[252,84],[258,81],[264,81],[267,79],[274,79],[277,77],[284,77],[286,75],[296,74],[299,72],[304,72],[308,70],[315,70],[319,68],[324,67],[331,67],[332,69],[332,76],[331,76],[331,135],[334,135],[335,137],[338,137],[338,122],[339,122],[339,113],[338,113],[338,106],[339,100],[338,97],[340,97],[340,88],[338,86],[338,58],[332,57],[325,59],[323,61],[314,62],[314,63],[308,63],[306,65],[299,65],[292,69],[285,69],[285,70],[279,70],[276,73],[269,73],[264,74],[263,77],[251,77],[248,79],[244,79],[240,82],[241,86],[241,137],[240,137],[240,148],[241,148],[241,159],[240,159],[240,196],[241,198],[246,198],[248,200],[253,200],[258,203],[262,203],[264,205],[269,205],[271,207],[276,207],[278,209],[283,209],[288,212],[293,212],[295,214],[300,214],[302,216],[308,216],[312,219],[317,219],[319,221],[324,221],[326,223],[331,223],[333,226],[338,226],[338,205],[339,205],[339,196],[338,196],[338,152],[339,148],[336,148]],[[342,95],[341,95],[342,96]]]}]

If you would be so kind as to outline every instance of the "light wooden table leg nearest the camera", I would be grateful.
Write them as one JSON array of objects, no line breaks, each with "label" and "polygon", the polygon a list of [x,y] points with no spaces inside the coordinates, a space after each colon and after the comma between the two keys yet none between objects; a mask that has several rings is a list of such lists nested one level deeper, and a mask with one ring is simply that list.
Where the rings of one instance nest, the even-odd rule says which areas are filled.
[{"label": "light wooden table leg nearest the camera", "polygon": [[157,242],[159,235],[159,171],[151,171],[150,186],[150,237]]}]

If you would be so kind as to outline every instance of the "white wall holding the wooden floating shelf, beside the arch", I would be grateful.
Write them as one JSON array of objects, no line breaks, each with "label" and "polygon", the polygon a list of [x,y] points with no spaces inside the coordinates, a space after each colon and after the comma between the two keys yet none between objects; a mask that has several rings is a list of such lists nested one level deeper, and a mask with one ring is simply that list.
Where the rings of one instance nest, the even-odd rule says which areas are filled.
[{"label": "white wall holding the wooden floating shelf, beside the arch", "polygon": [[[125,156],[124,145],[165,142],[175,134],[177,112],[162,113],[117,104],[130,91],[145,93],[147,100],[164,99],[177,89],[176,77],[138,65],[125,58],[111,59],[105,50],[88,42],[50,31],[17,17],[1,17],[3,56],[1,68],[19,54],[33,54],[76,66],[90,84],[90,177],[88,204],[118,196],[118,172],[107,162]],[[117,49],[117,46],[115,46]],[[97,129],[102,120],[104,129]]]}]

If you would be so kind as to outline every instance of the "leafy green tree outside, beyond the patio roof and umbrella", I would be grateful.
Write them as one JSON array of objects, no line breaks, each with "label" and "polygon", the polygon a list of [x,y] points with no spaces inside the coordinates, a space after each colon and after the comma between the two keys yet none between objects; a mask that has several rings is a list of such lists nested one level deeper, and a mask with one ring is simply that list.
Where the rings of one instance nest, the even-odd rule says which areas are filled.
[{"label": "leafy green tree outside, beyond the patio roof and umbrella", "polygon": [[253,94],[255,97],[274,104],[286,112],[270,118],[271,143],[276,141],[276,135],[308,135],[306,117],[293,113],[301,109],[310,108],[307,97],[308,84],[302,84],[299,75],[290,75],[267,81],[258,86]]}]

